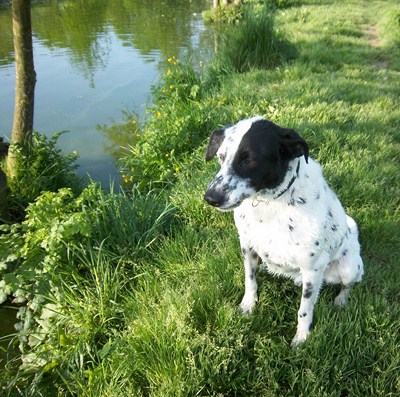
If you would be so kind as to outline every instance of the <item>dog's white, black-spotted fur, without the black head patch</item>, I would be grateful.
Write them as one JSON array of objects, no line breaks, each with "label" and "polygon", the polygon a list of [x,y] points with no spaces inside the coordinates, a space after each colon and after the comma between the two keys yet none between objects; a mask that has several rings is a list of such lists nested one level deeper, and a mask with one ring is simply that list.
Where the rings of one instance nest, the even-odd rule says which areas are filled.
[{"label": "dog's white, black-spotted fur, without the black head patch", "polygon": [[273,190],[255,192],[248,181],[235,176],[232,160],[255,120],[258,118],[225,130],[217,152],[221,169],[210,187],[222,186],[229,197],[219,209],[234,209],[245,264],[243,312],[251,312],[257,301],[255,272],[259,258],[269,272],[302,285],[297,332],[292,341],[292,346],[297,346],[310,333],[323,282],[343,285],[335,303],[344,306],[351,286],[361,281],[363,262],[357,225],[346,215],[324,180],[321,167],[311,158],[308,164],[303,156],[291,160],[283,182]]}]

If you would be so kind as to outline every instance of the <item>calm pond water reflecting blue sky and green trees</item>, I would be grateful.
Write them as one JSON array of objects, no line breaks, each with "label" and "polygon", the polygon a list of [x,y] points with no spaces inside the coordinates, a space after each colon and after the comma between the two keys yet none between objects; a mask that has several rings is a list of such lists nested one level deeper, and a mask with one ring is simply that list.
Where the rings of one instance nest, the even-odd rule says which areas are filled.
[{"label": "calm pond water reflecting blue sky and green trees", "polygon": [[[0,0],[0,136],[12,129],[15,65],[9,5]],[[80,156],[79,173],[104,187],[117,178],[115,157],[132,142],[129,125],[143,116],[168,57],[213,48],[201,12],[209,0],[33,1],[37,73],[34,129],[67,130],[59,145]]]}]

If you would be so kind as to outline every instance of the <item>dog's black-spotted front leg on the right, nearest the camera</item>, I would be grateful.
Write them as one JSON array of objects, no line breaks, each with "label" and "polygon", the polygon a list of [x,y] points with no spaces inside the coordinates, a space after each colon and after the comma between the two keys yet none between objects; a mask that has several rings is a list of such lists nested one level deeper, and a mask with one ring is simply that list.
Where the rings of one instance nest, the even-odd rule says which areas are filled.
[{"label": "dog's black-spotted front leg on the right, nearest the camera", "polygon": [[303,290],[300,309],[298,311],[297,332],[292,340],[292,347],[304,342],[310,334],[313,321],[314,305],[321,289],[323,273],[321,271],[306,270],[301,272]]}]

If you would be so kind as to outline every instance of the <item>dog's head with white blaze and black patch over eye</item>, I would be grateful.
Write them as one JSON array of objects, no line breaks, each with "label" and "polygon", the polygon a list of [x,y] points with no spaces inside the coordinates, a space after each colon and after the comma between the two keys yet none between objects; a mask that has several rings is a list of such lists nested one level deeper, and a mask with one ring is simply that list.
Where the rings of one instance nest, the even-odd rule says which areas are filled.
[{"label": "dog's head with white blaze and black patch over eye", "polygon": [[214,131],[206,160],[215,155],[221,169],[204,199],[228,211],[260,191],[278,188],[291,160],[303,155],[308,160],[308,145],[295,131],[254,117]]}]

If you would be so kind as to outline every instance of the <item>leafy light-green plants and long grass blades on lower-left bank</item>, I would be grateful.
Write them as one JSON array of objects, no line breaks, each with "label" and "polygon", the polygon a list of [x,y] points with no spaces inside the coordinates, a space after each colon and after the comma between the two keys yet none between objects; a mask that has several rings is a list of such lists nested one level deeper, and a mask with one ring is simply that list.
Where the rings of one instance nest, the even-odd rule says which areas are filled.
[{"label": "leafy light-green plants and long grass blades on lower-left bank", "polygon": [[[75,365],[76,349],[100,338],[99,328],[111,321],[108,309],[99,317],[101,302],[109,305],[110,294],[117,302],[121,286],[143,271],[139,259],[167,232],[172,216],[160,193],[106,194],[92,184],[77,198],[67,188],[43,193],[24,222],[1,226],[0,302],[12,296],[24,304],[17,324],[20,381],[40,382],[64,368],[65,357],[66,366]],[[58,348],[49,350],[49,343]]]}]

